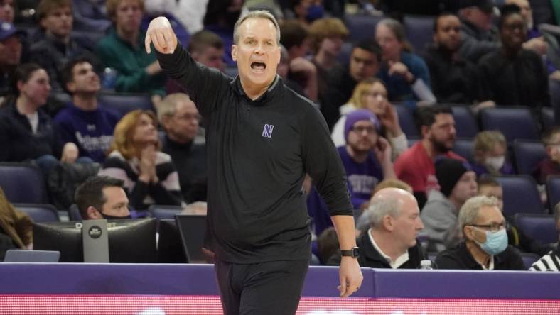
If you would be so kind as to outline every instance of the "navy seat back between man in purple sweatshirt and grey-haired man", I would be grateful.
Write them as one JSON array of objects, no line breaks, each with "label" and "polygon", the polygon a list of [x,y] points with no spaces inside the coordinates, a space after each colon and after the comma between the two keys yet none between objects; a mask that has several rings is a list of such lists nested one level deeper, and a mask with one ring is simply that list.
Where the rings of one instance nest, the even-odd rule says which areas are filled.
[{"label": "navy seat back between man in purple sweatshirt and grey-haired man", "polygon": [[99,105],[124,116],[129,111],[144,109],[154,111],[149,94],[103,92],[98,96]]}]

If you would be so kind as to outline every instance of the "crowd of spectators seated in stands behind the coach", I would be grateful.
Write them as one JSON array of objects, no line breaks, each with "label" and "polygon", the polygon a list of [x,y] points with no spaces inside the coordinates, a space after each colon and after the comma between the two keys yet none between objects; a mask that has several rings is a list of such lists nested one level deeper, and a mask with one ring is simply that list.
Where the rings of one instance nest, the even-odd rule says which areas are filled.
[{"label": "crowd of spectators seated in stands behind the coach", "polygon": [[[517,174],[511,143],[500,131],[480,131],[470,138],[471,156],[454,153],[458,127],[448,105],[475,117],[488,108],[527,106],[546,148],[532,175],[539,185],[560,175],[560,128],[545,130],[541,118],[543,108],[559,101],[554,36],[545,39],[537,27],[543,20],[527,0],[438,1],[429,12],[413,2],[41,0],[30,11],[0,0],[0,162],[38,165],[47,181],[76,165],[94,165],[86,178],[95,172],[120,180],[108,184],[126,195],[119,216],[129,216],[128,206],[145,211],[205,201],[204,117],[197,100],[144,49],[146,21],[167,16],[196,62],[235,76],[235,21],[268,9],[281,26],[279,76],[321,111],[338,147],[360,217],[360,262],[416,268],[439,253],[442,268],[527,269],[519,250],[545,255],[551,247],[502,214],[502,187],[492,177]],[[352,40],[350,11],[377,18],[360,40]],[[432,14],[433,40],[425,48],[409,43],[418,31],[406,27],[409,13]],[[131,93],[151,99],[153,110],[123,116],[99,97]],[[63,104],[53,97],[61,94],[68,96]],[[404,132],[397,109],[414,117],[419,134]],[[86,179],[73,178],[64,201],[53,188],[53,204],[66,210],[77,202],[85,219],[111,218],[114,211],[102,204],[71,200]],[[324,264],[336,263],[325,203],[313,184],[305,190],[317,254]],[[10,220],[28,221],[1,197]],[[13,240],[4,249],[31,246],[28,231],[17,236],[19,227],[10,224],[0,230]],[[417,241],[420,231],[425,238]],[[552,269],[554,259],[557,250],[533,269]]]}]

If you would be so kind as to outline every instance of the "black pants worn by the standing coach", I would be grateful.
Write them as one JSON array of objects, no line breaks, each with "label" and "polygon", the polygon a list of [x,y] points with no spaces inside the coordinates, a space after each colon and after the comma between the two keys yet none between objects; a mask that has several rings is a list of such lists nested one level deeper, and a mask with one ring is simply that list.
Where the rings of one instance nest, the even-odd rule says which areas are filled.
[{"label": "black pants worn by the standing coach", "polygon": [[249,265],[217,260],[214,267],[224,314],[295,314],[308,265],[308,260]]}]

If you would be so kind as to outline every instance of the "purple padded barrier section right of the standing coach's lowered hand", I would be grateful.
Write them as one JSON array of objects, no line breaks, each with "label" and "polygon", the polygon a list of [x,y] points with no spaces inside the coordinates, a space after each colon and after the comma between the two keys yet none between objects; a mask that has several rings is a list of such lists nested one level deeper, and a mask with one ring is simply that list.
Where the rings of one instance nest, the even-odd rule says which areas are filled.
[{"label": "purple padded barrier section right of the standing coach's lowered hand", "polygon": [[559,272],[374,270],[373,297],[560,299]]}]

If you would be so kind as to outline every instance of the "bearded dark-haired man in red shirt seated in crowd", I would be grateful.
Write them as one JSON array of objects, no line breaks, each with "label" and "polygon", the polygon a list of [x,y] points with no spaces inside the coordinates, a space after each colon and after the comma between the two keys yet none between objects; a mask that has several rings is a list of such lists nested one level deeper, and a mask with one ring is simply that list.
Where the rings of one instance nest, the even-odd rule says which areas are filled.
[{"label": "bearded dark-haired man in red shirt seated in crowd", "polygon": [[455,143],[455,120],[448,106],[419,109],[422,140],[404,151],[394,163],[397,177],[411,185],[418,204],[423,207],[432,189],[438,188],[434,160],[439,155],[463,160],[451,152]]}]

